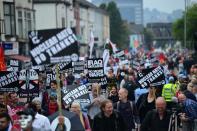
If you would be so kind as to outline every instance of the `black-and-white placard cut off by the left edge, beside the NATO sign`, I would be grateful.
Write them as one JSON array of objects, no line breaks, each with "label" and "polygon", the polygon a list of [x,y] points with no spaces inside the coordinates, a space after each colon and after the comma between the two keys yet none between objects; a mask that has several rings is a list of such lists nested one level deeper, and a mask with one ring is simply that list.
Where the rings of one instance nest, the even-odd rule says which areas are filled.
[{"label": "black-and-white placard cut off by the left edge, beside the NATO sign", "polygon": [[0,72],[0,92],[18,92],[18,72]]}]

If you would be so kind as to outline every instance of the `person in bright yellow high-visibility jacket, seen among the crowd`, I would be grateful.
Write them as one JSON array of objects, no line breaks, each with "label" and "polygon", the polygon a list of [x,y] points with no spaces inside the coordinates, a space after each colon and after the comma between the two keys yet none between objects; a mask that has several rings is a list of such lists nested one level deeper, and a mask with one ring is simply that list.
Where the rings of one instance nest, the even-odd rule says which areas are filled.
[{"label": "person in bright yellow high-visibility jacket, seen among the crowd", "polygon": [[171,109],[172,107],[172,97],[176,96],[176,87],[174,84],[174,77],[169,77],[169,83],[165,84],[162,89],[162,97],[164,97],[167,102],[167,108]]}]

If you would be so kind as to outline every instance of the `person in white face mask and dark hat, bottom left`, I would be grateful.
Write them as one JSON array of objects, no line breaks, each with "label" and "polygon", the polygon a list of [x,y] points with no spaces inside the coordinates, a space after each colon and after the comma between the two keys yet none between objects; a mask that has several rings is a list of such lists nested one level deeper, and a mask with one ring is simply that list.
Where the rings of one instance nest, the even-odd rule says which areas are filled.
[{"label": "person in white face mask and dark hat, bottom left", "polygon": [[32,126],[35,112],[31,108],[26,108],[23,111],[17,112],[19,116],[19,123],[21,126],[21,131],[39,131],[40,129],[36,129]]}]

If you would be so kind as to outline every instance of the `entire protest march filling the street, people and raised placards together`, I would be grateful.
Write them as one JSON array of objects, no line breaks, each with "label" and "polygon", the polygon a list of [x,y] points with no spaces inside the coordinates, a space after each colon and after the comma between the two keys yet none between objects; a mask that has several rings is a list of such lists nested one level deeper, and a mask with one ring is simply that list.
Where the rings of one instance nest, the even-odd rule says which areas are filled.
[{"label": "entire protest march filling the street, people and raised placards together", "polygon": [[103,56],[89,44],[82,57],[74,28],[28,36],[30,66],[0,68],[0,130],[197,131],[197,62],[188,50],[117,49],[108,39]]}]

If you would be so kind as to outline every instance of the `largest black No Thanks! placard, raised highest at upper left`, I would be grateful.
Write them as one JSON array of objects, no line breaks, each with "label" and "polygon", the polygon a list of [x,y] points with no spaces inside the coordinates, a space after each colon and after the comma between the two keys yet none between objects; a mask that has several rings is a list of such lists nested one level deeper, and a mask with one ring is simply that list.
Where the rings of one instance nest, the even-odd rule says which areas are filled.
[{"label": "largest black No Thanks! placard, raised highest at upper left", "polygon": [[33,65],[78,60],[78,44],[71,28],[31,31],[30,55]]}]

